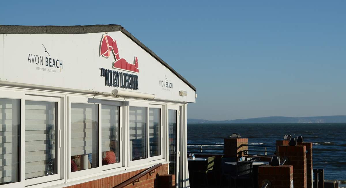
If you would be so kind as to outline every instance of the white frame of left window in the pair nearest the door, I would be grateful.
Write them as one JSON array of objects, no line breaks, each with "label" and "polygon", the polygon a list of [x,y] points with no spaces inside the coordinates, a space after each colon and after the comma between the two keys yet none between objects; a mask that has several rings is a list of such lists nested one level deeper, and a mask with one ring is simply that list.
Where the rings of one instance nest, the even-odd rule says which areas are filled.
[{"label": "white frame of left window in the pair nearest the door", "polygon": [[[134,160],[134,161],[130,161],[130,107],[145,107],[147,108],[147,158],[145,159],[139,159],[139,160]],[[133,166],[137,166],[137,165],[145,165],[147,164],[150,159],[149,159],[149,103],[143,103],[143,102],[129,102],[129,107],[127,110],[127,137],[126,137],[126,143],[127,143],[127,164],[129,167],[133,167]]]}]

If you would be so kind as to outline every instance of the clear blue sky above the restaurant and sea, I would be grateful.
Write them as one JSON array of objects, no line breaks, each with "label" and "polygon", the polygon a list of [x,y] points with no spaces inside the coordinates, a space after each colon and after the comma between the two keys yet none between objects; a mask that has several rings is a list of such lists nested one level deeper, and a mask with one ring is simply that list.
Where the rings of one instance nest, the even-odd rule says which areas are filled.
[{"label": "clear blue sky above the restaurant and sea", "polygon": [[4,1],[0,24],[120,24],[195,87],[189,118],[346,115],[346,1]]}]

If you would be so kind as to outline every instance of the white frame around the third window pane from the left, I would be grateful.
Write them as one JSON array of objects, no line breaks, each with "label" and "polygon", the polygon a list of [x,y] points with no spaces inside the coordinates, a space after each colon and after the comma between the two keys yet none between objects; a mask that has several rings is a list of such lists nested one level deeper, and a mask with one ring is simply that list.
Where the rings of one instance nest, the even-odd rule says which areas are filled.
[{"label": "white frame around the third window pane from the left", "polygon": [[[91,98],[89,97],[75,97],[75,96],[68,96],[68,135],[67,135],[67,155],[66,155],[66,159],[67,159],[67,178],[68,179],[72,179],[72,178],[78,178],[78,177],[82,177],[82,176],[88,176],[91,174],[98,174],[101,173],[101,166],[102,166],[102,162],[101,162],[101,103],[98,100],[90,100]],[[80,170],[80,171],[75,171],[75,172],[71,172],[71,163],[69,161],[71,161],[71,103],[80,103],[80,104],[97,104],[98,105],[98,163],[99,163],[99,167],[95,167],[95,168],[90,168],[90,169],[85,169],[85,170]]]}]

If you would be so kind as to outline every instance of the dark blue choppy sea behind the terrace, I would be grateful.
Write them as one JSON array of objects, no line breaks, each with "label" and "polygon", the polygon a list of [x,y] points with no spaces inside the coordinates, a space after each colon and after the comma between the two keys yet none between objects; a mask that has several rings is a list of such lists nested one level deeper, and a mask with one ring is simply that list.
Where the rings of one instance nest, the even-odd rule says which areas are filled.
[{"label": "dark blue choppy sea behind the terrace", "polygon": [[[325,180],[337,180],[339,187],[345,188],[345,129],[346,123],[188,124],[187,136],[189,144],[220,144],[224,143],[225,137],[238,133],[242,138],[248,138],[249,144],[273,146],[275,146],[276,140],[282,140],[285,134],[290,134],[294,138],[303,136],[304,142],[313,144],[313,169],[324,169]],[[255,147],[249,147],[249,149],[264,150]],[[268,148],[267,150],[276,149]],[[209,150],[209,152],[217,151]]]}]

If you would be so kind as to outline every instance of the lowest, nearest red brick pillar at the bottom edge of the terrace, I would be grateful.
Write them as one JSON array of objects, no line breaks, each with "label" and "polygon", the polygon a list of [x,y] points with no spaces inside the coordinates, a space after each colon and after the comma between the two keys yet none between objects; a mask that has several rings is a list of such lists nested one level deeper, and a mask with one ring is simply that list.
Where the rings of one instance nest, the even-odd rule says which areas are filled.
[{"label": "lowest, nearest red brick pillar at the bottom edge of the terrace", "polygon": [[265,179],[271,182],[270,188],[293,188],[293,166],[260,166],[258,187],[262,187],[262,181]]}]

